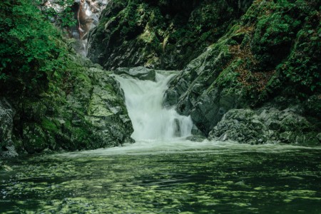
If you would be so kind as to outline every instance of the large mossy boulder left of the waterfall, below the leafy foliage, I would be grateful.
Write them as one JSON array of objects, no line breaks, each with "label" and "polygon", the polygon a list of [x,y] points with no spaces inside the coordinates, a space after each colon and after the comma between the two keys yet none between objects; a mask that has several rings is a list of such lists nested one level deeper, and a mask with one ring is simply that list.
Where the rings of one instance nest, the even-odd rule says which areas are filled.
[{"label": "large mossy boulder left of the waterfall, below the leafy foliage", "polygon": [[[132,143],[133,126],[111,72],[81,56],[75,57],[67,69],[63,86],[53,86],[54,93],[46,91],[39,98],[15,103],[13,143],[17,151],[76,151]],[[5,109],[6,117],[1,120],[6,119],[8,123],[3,124],[9,125],[2,135],[10,136],[12,112]]]}]

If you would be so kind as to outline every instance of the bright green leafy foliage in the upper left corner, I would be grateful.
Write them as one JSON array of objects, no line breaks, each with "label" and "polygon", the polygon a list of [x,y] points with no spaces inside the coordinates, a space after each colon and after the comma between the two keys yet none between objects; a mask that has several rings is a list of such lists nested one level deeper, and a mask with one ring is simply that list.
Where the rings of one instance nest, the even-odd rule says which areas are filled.
[{"label": "bright green leafy foliage in the upper left corner", "polygon": [[0,93],[39,93],[62,71],[60,34],[29,1],[0,6]]}]

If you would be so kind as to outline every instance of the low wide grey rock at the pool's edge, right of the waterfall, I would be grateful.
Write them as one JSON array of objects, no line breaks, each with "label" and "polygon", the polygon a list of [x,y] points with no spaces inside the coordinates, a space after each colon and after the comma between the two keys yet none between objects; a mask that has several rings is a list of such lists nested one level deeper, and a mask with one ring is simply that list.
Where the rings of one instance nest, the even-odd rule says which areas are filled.
[{"label": "low wide grey rock at the pool's edge, right of the waterfall", "polygon": [[287,109],[232,109],[210,131],[209,138],[239,143],[297,143],[315,145],[316,129],[305,118]]}]

